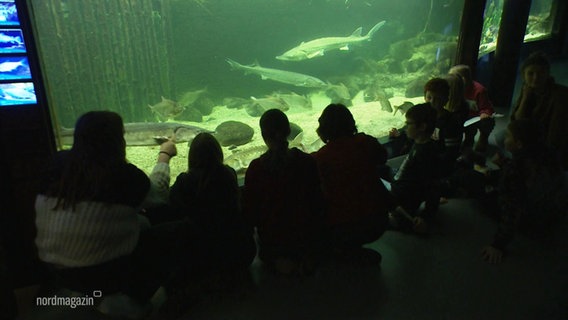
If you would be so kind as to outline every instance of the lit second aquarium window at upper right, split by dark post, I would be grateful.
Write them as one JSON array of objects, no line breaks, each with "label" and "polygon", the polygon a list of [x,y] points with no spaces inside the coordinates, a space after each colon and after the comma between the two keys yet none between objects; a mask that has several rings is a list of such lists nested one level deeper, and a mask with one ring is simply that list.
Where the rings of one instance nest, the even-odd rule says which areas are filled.
[{"label": "lit second aquarium window at upper right, split by dark post", "polygon": [[[524,42],[536,41],[550,37],[554,23],[553,0],[538,0],[531,2],[527,29]],[[495,51],[501,15],[503,14],[502,0],[488,0],[485,4],[483,31],[479,45],[479,57]]]}]

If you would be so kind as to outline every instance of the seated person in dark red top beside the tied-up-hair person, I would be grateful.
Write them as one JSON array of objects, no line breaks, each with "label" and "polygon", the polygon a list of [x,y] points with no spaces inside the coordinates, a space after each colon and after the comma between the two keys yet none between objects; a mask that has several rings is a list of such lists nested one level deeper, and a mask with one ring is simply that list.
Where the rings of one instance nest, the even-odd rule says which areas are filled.
[{"label": "seated person in dark red top beside the tied-up-hair person", "polygon": [[353,115],[342,104],[328,105],[318,121],[325,145],[312,155],[329,210],[330,246],[349,258],[374,256],[380,262],[380,255],[362,245],[377,240],[388,223],[392,200],[380,177],[387,151],[376,138],[357,132]]}]

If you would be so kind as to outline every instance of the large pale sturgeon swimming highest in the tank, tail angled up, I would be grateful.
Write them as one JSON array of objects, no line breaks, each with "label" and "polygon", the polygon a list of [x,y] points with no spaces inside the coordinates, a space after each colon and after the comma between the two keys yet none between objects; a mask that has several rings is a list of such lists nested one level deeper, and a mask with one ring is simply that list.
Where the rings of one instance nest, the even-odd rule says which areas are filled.
[{"label": "large pale sturgeon swimming highest in the tank, tail angled up", "polygon": [[357,28],[348,37],[326,37],[302,42],[299,46],[292,48],[282,55],[276,57],[278,60],[301,61],[321,57],[329,50],[349,50],[352,44],[359,44],[370,41],[373,35],[385,24],[385,21],[377,23],[369,32],[362,36],[362,27]]}]

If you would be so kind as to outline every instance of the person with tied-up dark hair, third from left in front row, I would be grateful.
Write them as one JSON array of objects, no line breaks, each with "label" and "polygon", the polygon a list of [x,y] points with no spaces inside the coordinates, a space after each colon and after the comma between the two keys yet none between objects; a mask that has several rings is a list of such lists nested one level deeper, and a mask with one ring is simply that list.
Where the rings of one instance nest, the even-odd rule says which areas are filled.
[{"label": "person with tied-up dark hair, third from left in front row", "polygon": [[311,273],[325,212],[316,162],[288,148],[284,112],[266,111],[260,129],[268,150],[250,163],[243,193],[245,216],[258,234],[258,256],[282,274]]}]

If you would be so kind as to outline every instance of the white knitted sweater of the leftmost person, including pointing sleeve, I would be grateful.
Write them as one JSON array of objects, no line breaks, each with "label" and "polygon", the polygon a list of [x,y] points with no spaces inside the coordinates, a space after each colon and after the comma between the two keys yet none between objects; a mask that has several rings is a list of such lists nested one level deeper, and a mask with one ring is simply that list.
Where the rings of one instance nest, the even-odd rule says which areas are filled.
[{"label": "white knitted sweater of the leftmost person, including pointing sleeve", "polygon": [[39,258],[65,268],[93,266],[130,254],[144,220],[139,209],[167,201],[169,165],[158,163],[150,181],[150,191],[140,208],[83,201],[74,210],[54,210],[56,198],[38,195],[35,242]]}]

